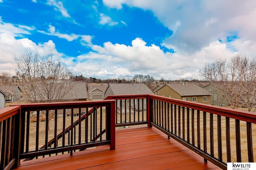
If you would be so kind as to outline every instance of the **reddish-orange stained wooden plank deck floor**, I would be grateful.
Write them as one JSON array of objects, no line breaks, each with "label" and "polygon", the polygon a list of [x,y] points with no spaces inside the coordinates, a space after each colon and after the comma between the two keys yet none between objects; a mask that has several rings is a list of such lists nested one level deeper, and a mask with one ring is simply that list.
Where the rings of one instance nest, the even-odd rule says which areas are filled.
[{"label": "reddish-orange stained wooden plank deck floor", "polygon": [[18,170],[172,169],[219,170],[155,128],[116,129],[116,150],[98,147],[85,151],[21,162]]}]

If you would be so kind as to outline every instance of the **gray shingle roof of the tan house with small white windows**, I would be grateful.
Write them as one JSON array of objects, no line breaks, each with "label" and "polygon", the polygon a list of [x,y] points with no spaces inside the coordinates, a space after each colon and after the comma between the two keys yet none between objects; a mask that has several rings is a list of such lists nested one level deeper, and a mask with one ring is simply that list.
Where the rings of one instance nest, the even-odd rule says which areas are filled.
[{"label": "gray shingle roof of the tan house with small white windows", "polygon": [[169,86],[174,91],[176,91],[180,96],[207,96],[211,95],[210,92],[207,90],[204,90],[200,86],[194,84],[194,83],[171,83],[166,84],[166,86]]}]

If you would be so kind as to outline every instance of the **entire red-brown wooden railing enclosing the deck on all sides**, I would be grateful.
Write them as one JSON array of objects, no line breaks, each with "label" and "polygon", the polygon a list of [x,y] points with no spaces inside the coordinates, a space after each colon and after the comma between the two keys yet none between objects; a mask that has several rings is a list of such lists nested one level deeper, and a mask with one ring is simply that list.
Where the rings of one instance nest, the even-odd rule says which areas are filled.
[{"label": "entire red-brown wooden railing enclosing the deck on all sides", "polygon": [[255,159],[255,113],[145,94],[0,109],[0,168],[99,145],[114,149],[115,126],[141,124],[156,127],[222,169],[227,162]]}]

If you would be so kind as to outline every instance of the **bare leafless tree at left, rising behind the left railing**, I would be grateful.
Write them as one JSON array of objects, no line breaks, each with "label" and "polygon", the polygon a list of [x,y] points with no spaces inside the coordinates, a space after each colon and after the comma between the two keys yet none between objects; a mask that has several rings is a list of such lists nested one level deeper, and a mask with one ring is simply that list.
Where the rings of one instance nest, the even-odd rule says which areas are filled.
[{"label": "bare leafless tree at left, rising behind the left railing", "polygon": [[72,73],[60,61],[55,61],[53,55],[41,57],[37,51],[24,49],[15,61],[27,101],[56,102],[67,98],[72,88]]}]

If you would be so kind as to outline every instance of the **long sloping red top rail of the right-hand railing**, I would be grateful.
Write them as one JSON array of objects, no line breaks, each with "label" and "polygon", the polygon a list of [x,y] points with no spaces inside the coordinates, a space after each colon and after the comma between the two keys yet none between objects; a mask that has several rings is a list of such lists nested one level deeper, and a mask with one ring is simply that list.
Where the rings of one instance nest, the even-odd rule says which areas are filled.
[{"label": "long sloping red top rail of the right-hand railing", "polygon": [[250,111],[243,111],[239,109],[231,109],[227,107],[213,106],[209,104],[201,104],[197,102],[184,101],[174,98],[167,98],[163,96],[150,95],[151,99],[161,100],[163,102],[168,102],[172,104],[176,104],[183,107],[188,107],[191,109],[198,109],[200,111],[206,111],[208,113],[214,113],[216,115],[221,115],[225,117],[230,117],[233,119],[239,119],[242,121],[248,121],[251,123],[256,123],[256,113]]}]

